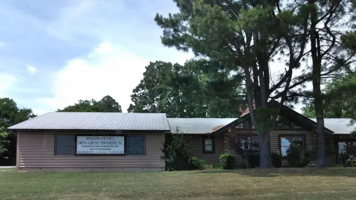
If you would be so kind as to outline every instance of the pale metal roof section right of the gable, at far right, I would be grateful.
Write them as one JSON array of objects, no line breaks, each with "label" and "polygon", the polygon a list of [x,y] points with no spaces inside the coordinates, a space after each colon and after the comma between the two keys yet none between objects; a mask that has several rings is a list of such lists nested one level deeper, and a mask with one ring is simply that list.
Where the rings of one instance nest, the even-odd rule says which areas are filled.
[{"label": "pale metal roof section right of the gable, at far right", "polygon": [[[316,118],[310,118],[317,121]],[[352,124],[350,118],[324,118],[324,127],[333,131],[333,134],[350,134],[356,130],[356,124]]]}]

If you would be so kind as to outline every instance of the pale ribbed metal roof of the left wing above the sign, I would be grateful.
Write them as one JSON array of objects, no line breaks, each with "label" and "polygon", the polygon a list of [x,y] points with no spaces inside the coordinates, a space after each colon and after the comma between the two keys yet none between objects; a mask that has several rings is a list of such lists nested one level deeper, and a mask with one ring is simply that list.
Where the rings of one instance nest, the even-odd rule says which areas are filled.
[{"label": "pale ribbed metal roof of the left wing above the sign", "polygon": [[169,131],[169,124],[164,113],[51,112],[9,129]]}]

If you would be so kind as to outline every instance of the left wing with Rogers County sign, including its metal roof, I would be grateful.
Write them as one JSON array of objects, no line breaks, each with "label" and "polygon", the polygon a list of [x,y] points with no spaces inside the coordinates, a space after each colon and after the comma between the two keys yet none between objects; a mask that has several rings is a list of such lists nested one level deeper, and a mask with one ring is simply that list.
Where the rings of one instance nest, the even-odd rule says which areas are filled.
[{"label": "left wing with Rogers County sign, including its metal roof", "polygon": [[18,170],[165,170],[166,114],[52,112],[9,130],[17,131]]}]

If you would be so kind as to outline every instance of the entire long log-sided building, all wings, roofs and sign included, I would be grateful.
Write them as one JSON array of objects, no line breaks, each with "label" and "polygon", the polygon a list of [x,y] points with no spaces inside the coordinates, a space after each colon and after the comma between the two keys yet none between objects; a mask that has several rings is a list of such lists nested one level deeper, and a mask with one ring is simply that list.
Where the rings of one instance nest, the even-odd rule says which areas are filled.
[{"label": "entire long log-sided building, all wings, roofs and sign included", "polygon": [[[350,119],[325,119],[326,164],[345,164],[356,155]],[[313,152],[316,119],[282,106],[270,134],[271,152],[285,158],[291,145]],[[163,171],[165,135],[190,137],[192,155],[210,164],[231,152],[235,165],[247,165],[240,151],[258,152],[249,113],[240,118],[167,118],[163,113],[46,113],[9,128],[17,132],[18,170]],[[282,159],[287,165],[285,159]]]}]

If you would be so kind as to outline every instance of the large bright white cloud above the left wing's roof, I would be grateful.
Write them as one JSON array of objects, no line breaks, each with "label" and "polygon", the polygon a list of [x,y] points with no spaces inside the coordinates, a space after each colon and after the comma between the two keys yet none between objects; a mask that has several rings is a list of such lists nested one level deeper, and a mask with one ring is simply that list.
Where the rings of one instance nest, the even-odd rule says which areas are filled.
[{"label": "large bright white cloud above the left wing's roof", "polygon": [[[192,56],[177,53],[175,57],[171,62],[184,63]],[[34,110],[52,112],[79,99],[99,100],[110,95],[126,112],[132,89],[140,83],[149,61],[104,41],[85,58],[72,59],[57,71],[53,77],[53,97],[39,99],[43,107]]]}]

